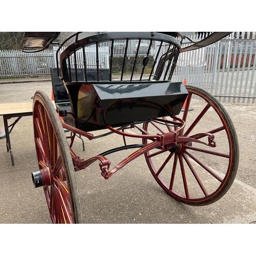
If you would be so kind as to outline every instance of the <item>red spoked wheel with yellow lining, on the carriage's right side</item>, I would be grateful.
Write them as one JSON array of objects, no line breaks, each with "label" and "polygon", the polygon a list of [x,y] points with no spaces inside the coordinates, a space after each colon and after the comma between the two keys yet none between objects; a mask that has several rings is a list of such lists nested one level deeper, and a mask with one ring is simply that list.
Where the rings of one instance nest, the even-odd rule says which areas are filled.
[{"label": "red spoked wheel with yellow lining, on the carriage's right side", "polygon": [[[238,138],[227,111],[214,96],[193,86],[186,89],[185,110],[179,115],[185,121],[180,143],[172,150],[146,152],[145,158],[154,178],[169,196],[188,205],[207,205],[223,197],[236,177]],[[193,111],[189,111],[191,106]],[[143,129],[150,134],[177,130],[164,120],[144,123]],[[209,141],[209,136],[214,142]],[[149,142],[143,139],[143,143]]]}]

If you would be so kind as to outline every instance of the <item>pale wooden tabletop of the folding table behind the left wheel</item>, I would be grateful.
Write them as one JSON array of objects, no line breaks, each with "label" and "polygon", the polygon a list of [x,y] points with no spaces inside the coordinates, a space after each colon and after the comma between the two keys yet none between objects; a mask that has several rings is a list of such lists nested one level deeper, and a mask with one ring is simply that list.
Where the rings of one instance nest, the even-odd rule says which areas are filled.
[{"label": "pale wooden tabletop of the folding table behind the left wheel", "polygon": [[[55,104],[54,101],[52,103]],[[0,115],[30,112],[33,112],[33,101],[0,104]]]}]

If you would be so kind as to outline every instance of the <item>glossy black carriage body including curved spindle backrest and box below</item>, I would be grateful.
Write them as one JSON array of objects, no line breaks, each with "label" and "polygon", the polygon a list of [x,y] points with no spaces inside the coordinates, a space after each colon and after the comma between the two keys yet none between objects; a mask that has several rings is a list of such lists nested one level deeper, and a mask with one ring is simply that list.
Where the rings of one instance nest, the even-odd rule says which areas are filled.
[{"label": "glossy black carriage body including curved spindle backrest and box below", "polygon": [[[120,41],[125,48],[121,56],[115,56],[114,46]],[[147,45],[145,52],[139,51],[140,45]],[[137,49],[135,57],[129,55],[132,46]],[[161,33],[109,32],[82,39],[77,35],[60,55],[61,79],[70,105],[56,104],[57,110],[66,110],[63,120],[82,131],[178,115],[187,91],[182,82],[170,80],[180,51],[177,38]],[[89,63],[92,54],[96,64]],[[120,72],[115,71],[116,58]]]}]

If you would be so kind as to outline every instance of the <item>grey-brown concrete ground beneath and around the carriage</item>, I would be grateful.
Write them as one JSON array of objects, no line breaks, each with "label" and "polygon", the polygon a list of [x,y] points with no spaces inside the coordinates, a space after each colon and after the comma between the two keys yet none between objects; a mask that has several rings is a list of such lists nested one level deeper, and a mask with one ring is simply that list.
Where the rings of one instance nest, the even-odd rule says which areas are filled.
[{"label": "grey-brown concrete ground beneath and around the carriage", "polygon": [[[43,90],[51,97],[51,81],[4,81],[0,83],[0,102],[32,101],[36,90]],[[228,110],[233,108],[231,103],[224,105]],[[255,105],[240,104],[236,108],[236,111],[230,111],[230,116],[239,136],[240,166],[236,180],[222,199],[201,207],[175,201],[154,180],[143,156],[119,170],[109,180],[101,177],[96,163],[77,174],[84,223],[255,223],[255,131],[247,130],[246,125],[247,122],[253,124],[256,121],[253,114]],[[248,108],[250,111],[247,111]],[[239,125],[245,113],[249,118]],[[9,120],[9,124],[14,120]],[[1,117],[0,129],[3,128]],[[79,138],[75,140],[74,150],[78,156],[86,159],[88,151],[103,152],[104,143],[111,144],[115,136],[103,139],[102,143],[86,138],[84,141],[85,152]],[[32,116],[20,119],[11,133],[14,166],[5,143],[5,139],[0,140],[0,223],[51,223],[42,188],[34,188],[31,179],[31,172],[38,168]],[[246,162],[243,162],[249,146],[253,153],[250,160],[246,158]],[[121,152],[117,158],[120,160],[124,156],[127,153]]]}]

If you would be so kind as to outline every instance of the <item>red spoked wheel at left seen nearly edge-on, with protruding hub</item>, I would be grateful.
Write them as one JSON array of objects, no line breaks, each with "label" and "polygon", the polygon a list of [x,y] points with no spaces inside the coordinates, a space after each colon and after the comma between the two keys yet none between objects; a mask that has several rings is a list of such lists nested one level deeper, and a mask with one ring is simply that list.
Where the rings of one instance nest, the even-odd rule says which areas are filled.
[{"label": "red spoked wheel at left seen nearly edge-on, with protruding hub", "polygon": [[82,223],[80,198],[67,138],[50,98],[36,92],[33,126],[39,171],[35,187],[43,186],[53,223]]}]

